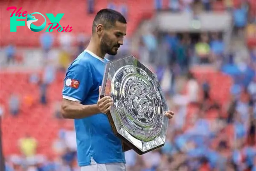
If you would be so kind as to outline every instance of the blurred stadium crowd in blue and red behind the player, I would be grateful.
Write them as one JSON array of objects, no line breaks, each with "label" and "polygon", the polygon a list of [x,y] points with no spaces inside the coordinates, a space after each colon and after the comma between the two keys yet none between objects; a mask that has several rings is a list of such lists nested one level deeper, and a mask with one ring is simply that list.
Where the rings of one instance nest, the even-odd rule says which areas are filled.
[{"label": "blurred stadium crowd in blue and red behind the player", "polygon": [[[247,1],[233,4],[232,0],[170,0],[169,10],[187,11],[195,15],[200,11],[218,11],[222,8],[233,13],[235,30],[233,36],[254,34],[255,11]],[[224,4],[224,6],[223,6]],[[155,9],[161,10],[162,1],[155,1]],[[115,9],[114,3],[109,4]],[[122,6],[121,12],[126,12]],[[92,12],[89,9],[89,12]],[[246,33],[246,34],[245,34]],[[84,50],[87,39],[79,36],[75,52],[70,52],[68,36],[60,38],[59,71],[65,72],[76,55]],[[42,35],[42,49],[49,55],[52,36]],[[127,171],[256,171],[256,45],[248,41],[248,56],[240,53],[226,54],[227,46],[220,32],[163,33],[141,35],[137,57],[156,72],[166,94],[169,108],[175,112],[170,120],[166,144],[157,150],[137,155],[134,151],[125,153]],[[128,45],[127,45],[128,46]],[[126,45],[120,54],[129,53]],[[15,63],[15,46],[6,48],[6,64]],[[46,58],[49,64],[50,58]],[[42,80],[50,84],[56,68],[48,66]],[[193,68],[214,70],[217,74],[232,78],[230,98],[227,101],[215,99],[221,94],[224,80],[218,87],[211,87],[211,80],[198,77]],[[47,86],[38,75],[32,75],[31,82],[41,85],[41,103],[46,103]],[[217,90],[213,92],[212,90]],[[224,95],[223,95],[224,96]],[[12,96],[9,102],[13,116],[19,113],[19,100]],[[55,117],[62,120],[59,103],[55,106]],[[0,116],[4,110],[0,107]],[[3,119],[4,122],[4,119]],[[3,137],[4,138],[4,137]],[[6,171],[79,171],[76,163],[76,138],[72,127],[59,130],[52,142],[54,157],[37,153],[38,142],[29,133],[18,142],[22,155],[6,156]]]}]

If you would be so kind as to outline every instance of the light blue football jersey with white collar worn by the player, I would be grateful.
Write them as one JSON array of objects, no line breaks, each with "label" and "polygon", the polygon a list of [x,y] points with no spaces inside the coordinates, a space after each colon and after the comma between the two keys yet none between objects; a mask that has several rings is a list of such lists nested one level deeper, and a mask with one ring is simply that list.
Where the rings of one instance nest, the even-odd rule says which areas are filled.
[{"label": "light blue football jersey with white collar worn by the player", "polygon": [[[88,50],[82,52],[67,70],[63,98],[96,104],[106,62]],[[113,134],[105,114],[75,119],[75,129],[79,166],[90,165],[92,158],[97,163],[125,162],[121,140]]]}]

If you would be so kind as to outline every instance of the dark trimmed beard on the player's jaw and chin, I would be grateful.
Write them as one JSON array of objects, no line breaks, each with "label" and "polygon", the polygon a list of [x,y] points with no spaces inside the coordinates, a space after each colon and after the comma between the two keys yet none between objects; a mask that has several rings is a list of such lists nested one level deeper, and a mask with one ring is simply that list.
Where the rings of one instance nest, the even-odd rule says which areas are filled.
[{"label": "dark trimmed beard on the player's jaw and chin", "polygon": [[[109,55],[116,55],[117,51],[113,51],[113,43],[107,34],[104,34],[102,37],[102,41],[100,42],[100,48],[102,52],[107,53]],[[116,47],[119,47],[116,45]]]}]

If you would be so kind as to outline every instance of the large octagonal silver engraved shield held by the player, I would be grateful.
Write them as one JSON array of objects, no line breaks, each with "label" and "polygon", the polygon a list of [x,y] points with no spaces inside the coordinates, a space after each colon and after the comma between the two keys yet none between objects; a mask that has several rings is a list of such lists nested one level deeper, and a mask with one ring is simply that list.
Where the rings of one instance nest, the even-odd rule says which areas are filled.
[{"label": "large octagonal silver engraved shield held by the player", "polygon": [[166,100],[157,76],[134,56],[106,65],[100,96],[113,98],[108,119],[125,145],[140,155],[164,145]]}]

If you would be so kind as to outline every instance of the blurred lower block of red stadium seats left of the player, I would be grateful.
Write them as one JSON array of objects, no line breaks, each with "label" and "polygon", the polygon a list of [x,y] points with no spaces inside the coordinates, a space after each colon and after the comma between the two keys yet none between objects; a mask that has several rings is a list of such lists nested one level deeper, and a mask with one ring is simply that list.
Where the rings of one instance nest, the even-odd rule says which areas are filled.
[{"label": "blurred lower block of red stadium seats left of the player", "polygon": [[[18,154],[17,141],[27,132],[35,137],[39,143],[39,152],[50,153],[49,147],[52,145],[53,139],[58,135],[59,128],[73,126],[71,120],[59,121],[53,116],[52,105],[34,104],[31,107],[26,106],[24,101],[21,102],[20,113],[17,117],[11,116],[8,112],[8,100],[10,95],[15,92],[19,93],[22,100],[28,95],[32,95],[35,103],[39,101],[39,87],[28,82],[30,73],[7,73],[1,72],[0,79],[6,79],[4,91],[0,91],[0,102],[5,107],[5,116],[3,118],[3,149],[5,154]],[[63,78],[63,74],[57,77]],[[58,101],[61,99],[62,82],[55,81],[50,86],[47,94],[50,101]],[[65,125],[64,125],[65,124]],[[48,150],[47,150],[48,149]],[[50,154],[49,154],[50,155]]]}]

